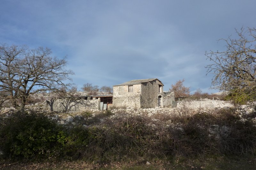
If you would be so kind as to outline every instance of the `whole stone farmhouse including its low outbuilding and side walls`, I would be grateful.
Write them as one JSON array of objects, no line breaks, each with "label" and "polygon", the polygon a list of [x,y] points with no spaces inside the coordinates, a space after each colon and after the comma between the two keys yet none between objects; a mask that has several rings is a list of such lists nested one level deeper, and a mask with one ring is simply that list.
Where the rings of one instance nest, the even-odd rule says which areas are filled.
[{"label": "whole stone farmhouse including its low outbuilding and side walls", "polygon": [[107,110],[111,106],[125,108],[171,107],[174,95],[163,91],[164,84],[157,78],[140,79],[113,86],[113,95],[52,98],[45,110],[83,111]]}]

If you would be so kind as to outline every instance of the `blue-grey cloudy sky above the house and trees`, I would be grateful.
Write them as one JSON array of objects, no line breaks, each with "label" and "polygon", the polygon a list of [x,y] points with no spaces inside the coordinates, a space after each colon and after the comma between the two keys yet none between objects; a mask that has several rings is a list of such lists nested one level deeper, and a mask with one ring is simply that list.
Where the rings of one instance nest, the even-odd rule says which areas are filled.
[{"label": "blue-grey cloudy sky above the house and trees", "polygon": [[205,51],[256,27],[255,0],[0,0],[0,43],[67,56],[77,89],[158,78],[213,93]]}]

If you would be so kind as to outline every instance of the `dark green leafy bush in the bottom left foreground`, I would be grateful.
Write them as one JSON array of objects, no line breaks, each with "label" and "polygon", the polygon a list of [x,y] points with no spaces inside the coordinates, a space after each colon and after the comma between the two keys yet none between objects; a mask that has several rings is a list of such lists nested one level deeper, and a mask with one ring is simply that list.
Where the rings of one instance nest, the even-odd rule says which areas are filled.
[{"label": "dark green leafy bush in the bottom left foreground", "polygon": [[4,157],[50,157],[60,131],[55,121],[42,114],[9,113],[0,126],[0,150]]}]

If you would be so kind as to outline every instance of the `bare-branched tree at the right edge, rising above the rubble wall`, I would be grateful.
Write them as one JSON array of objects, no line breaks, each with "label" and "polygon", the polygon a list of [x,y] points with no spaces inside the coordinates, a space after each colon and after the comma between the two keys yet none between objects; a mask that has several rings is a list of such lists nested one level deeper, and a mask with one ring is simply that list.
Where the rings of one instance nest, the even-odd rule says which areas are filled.
[{"label": "bare-branched tree at the right edge, rising above the rubble wall", "polygon": [[236,33],[236,38],[220,39],[226,43],[225,51],[205,52],[212,61],[206,68],[207,74],[213,74],[213,89],[231,91],[244,101],[256,96],[256,29],[241,28]]}]

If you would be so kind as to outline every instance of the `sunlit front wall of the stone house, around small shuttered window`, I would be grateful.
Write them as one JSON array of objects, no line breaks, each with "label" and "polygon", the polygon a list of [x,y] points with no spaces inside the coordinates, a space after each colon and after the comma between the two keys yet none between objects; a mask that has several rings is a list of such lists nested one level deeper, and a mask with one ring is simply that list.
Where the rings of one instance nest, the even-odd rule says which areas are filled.
[{"label": "sunlit front wall of the stone house, around small shuttered window", "polygon": [[116,107],[140,108],[141,84],[133,85],[133,92],[128,92],[128,85],[113,86],[113,105]]}]

